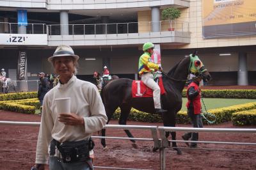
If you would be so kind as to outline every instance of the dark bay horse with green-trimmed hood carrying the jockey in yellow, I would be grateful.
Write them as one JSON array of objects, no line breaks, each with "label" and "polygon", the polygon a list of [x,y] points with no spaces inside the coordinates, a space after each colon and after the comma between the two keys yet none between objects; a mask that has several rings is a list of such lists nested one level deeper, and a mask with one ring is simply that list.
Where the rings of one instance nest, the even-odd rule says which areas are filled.
[{"label": "dark bay horse with green-trimmed hood carrying the jockey in yellow", "polygon": [[[186,79],[189,73],[202,73],[204,81],[209,81],[211,75],[204,68],[202,61],[196,54],[185,56],[172,70],[163,74],[163,85],[166,93],[161,95],[161,104],[163,109],[167,110],[162,115],[164,127],[175,127],[176,115],[182,107],[182,90],[184,89]],[[102,101],[104,103],[108,123],[115,110],[120,107],[119,124],[126,125],[127,118],[131,108],[138,109],[151,114],[155,113],[154,101],[152,97],[132,98],[132,80],[117,79],[111,81],[101,91]],[[129,130],[124,130],[128,137],[133,137]],[[106,129],[102,129],[102,136],[105,136]],[[171,132],[172,140],[176,139],[176,132]],[[166,132],[166,137],[170,132]],[[134,144],[135,141],[131,140]],[[101,144],[106,148],[106,140],[101,139]],[[176,142],[172,142],[173,147],[177,147]],[[174,148],[178,154],[181,154],[179,148]],[[157,150],[157,148],[154,148]]]}]

